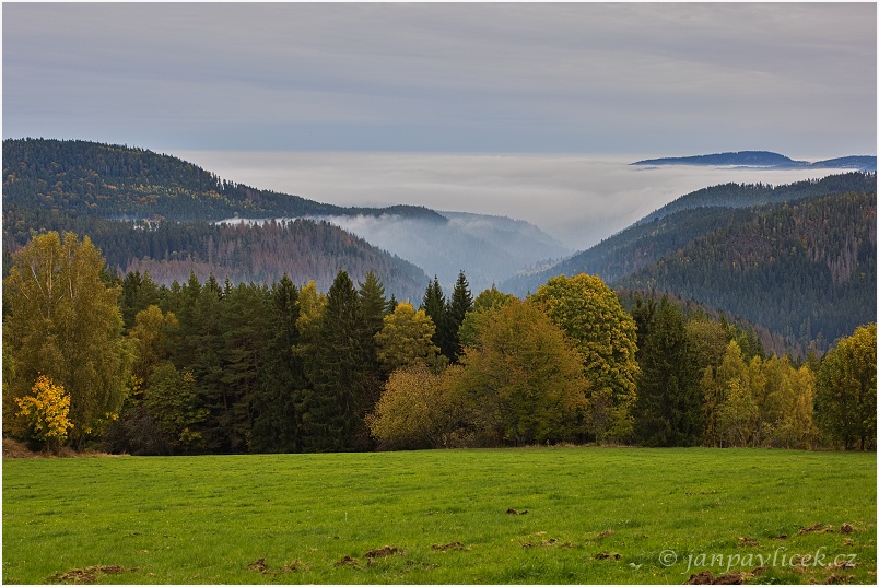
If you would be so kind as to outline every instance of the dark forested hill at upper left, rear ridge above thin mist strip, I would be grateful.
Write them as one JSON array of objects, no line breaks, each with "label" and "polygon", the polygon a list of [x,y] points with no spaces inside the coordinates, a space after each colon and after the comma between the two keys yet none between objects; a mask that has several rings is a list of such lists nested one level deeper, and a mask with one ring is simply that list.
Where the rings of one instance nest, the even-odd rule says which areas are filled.
[{"label": "dark forested hill at upper left, rear ridge above thin mist strip", "polygon": [[343,208],[231,183],[192,163],[144,149],[56,139],[3,141],[3,200],[130,220],[391,214],[446,221],[426,208]]}]

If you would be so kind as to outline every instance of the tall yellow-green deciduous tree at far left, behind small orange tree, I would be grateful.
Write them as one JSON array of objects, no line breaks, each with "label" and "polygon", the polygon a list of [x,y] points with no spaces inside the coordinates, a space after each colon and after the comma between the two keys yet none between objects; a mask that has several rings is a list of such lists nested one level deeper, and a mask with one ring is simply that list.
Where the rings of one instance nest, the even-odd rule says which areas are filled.
[{"label": "tall yellow-green deciduous tree at far left, behind small orange tree", "polygon": [[89,237],[34,237],[3,280],[3,343],[15,364],[9,390],[27,394],[40,375],[70,395],[71,438],[81,445],[121,408],[130,355],[118,287],[101,279],[104,259]]}]

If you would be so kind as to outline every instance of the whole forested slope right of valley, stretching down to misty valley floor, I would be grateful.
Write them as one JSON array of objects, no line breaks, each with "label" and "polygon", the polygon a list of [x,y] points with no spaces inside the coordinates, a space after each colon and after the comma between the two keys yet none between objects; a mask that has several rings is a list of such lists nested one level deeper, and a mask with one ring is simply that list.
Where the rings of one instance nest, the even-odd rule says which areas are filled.
[{"label": "whole forested slope right of valley, stretching down to misty valley floor", "polygon": [[818,338],[825,349],[876,320],[876,176],[844,177],[843,187],[866,180],[869,190],[681,210],[501,287],[523,295],[556,274],[598,274],[614,289],[669,292],[762,325],[783,337],[767,348]]}]

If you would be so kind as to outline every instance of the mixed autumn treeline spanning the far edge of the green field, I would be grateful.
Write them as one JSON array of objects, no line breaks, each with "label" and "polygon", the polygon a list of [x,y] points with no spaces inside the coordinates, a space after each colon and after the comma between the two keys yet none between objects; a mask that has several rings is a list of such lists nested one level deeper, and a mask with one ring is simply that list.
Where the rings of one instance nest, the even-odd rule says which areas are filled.
[{"label": "mixed autumn treeline spanning the far edge of the green field", "polygon": [[448,297],[429,282],[417,309],[372,272],[339,271],[326,295],[286,277],[119,281],[73,234],[38,236],[13,262],[3,426],[35,445],[876,447],[875,324],[799,363],[667,298],[626,312],[589,275],[520,300],[473,298],[461,273]]}]

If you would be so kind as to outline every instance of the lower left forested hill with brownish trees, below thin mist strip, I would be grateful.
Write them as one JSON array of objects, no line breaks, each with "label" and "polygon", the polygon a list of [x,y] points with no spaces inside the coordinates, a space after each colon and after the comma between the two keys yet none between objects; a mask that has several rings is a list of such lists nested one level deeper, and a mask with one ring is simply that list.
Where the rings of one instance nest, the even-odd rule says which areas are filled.
[{"label": "lower left forested hill with brownish trees, below thin mist strip", "polygon": [[421,294],[426,275],[414,265],[328,222],[313,220],[214,224],[208,222],[125,222],[77,212],[3,206],[3,268],[12,253],[33,237],[33,228],[89,234],[112,271],[140,271],[171,285],[195,272],[233,283],[271,284],[288,274],[297,283],[315,280],[326,291],[339,269],[374,270],[400,298]]}]

